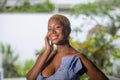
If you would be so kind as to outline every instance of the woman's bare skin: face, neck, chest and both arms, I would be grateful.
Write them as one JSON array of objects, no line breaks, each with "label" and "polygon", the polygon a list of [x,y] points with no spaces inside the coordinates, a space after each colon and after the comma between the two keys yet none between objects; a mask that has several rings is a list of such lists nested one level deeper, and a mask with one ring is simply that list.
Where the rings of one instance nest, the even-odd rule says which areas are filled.
[{"label": "woman's bare skin: face, neck, chest and both arms", "polygon": [[[82,61],[86,68],[86,74],[92,80],[108,80],[103,72],[101,72],[84,54],[79,53],[70,46],[68,37],[63,33],[64,27],[57,19],[52,19],[48,22],[48,33],[45,37],[46,50],[40,54],[35,65],[27,73],[27,80],[36,80],[38,74],[42,72],[44,77],[53,75],[61,65],[61,59],[65,56],[76,55]],[[51,43],[49,42],[51,41]],[[57,53],[54,55],[53,44],[57,46]],[[45,65],[49,60],[49,64]]]}]

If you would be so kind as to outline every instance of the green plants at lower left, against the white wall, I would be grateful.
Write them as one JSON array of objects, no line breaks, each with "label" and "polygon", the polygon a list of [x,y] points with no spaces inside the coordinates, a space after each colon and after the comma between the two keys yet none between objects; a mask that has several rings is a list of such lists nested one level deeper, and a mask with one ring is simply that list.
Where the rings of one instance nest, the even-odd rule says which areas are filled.
[{"label": "green plants at lower left, against the white wall", "polygon": [[22,65],[21,63],[16,63],[19,55],[13,55],[14,51],[11,49],[9,44],[0,44],[0,53],[2,53],[2,66],[5,78],[12,77],[25,77],[28,70],[32,68],[34,60],[26,60]]}]

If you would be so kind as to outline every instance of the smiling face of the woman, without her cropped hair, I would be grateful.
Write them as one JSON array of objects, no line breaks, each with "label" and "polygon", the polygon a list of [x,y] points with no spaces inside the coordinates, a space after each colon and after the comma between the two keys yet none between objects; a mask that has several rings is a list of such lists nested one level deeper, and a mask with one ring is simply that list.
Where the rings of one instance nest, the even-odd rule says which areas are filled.
[{"label": "smiling face of the woman, without her cropped hair", "polygon": [[57,19],[51,19],[48,22],[47,36],[53,44],[62,44],[64,42],[63,26]]}]

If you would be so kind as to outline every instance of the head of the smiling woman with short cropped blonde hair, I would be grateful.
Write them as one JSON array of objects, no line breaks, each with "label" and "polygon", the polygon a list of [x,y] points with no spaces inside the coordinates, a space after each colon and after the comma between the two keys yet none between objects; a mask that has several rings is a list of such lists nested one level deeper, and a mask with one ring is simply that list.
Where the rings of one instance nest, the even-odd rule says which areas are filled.
[{"label": "head of the smiling woman with short cropped blonde hair", "polygon": [[67,18],[60,18],[61,16],[54,15],[50,18],[48,23],[48,38],[53,41],[59,40],[56,44],[64,44],[64,40],[68,40],[69,34],[71,32],[70,22]]}]

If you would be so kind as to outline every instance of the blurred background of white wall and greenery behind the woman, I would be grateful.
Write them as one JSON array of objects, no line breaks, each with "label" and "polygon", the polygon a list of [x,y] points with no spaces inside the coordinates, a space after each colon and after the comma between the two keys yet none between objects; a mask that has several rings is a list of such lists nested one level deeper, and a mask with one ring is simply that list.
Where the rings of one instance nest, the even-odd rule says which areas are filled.
[{"label": "blurred background of white wall and greenery behind the woman", "polygon": [[71,22],[71,45],[120,80],[120,0],[0,0],[0,80],[26,80],[57,13]]}]

